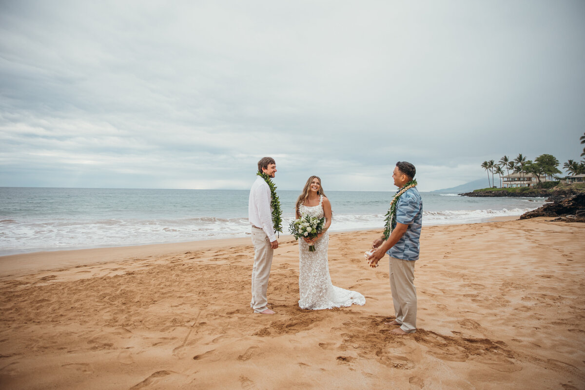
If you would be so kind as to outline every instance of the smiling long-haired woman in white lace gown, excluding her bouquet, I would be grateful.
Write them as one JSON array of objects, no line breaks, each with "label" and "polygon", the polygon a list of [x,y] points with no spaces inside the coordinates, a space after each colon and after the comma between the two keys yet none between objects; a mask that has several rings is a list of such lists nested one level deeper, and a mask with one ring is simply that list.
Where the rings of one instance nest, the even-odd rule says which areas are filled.
[{"label": "smiling long-haired woman in white lace gown, excluding her bouquet", "polygon": [[[366,298],[356,291],[335,287],[329,276],[327,249],[329,247],[329,233],[331,226],[331,203],[326,198],[321,179],[309,177],[307,184],[297,199],[297,218],[310,215],[322,218],[325,216],[325,226],[315,239],[298,240],[299,275],[298,289],[301,299],[298,306],[301,309],[332,309],[366,303]],[[309,245],[314,244],[315,251],[309,251]]]}]

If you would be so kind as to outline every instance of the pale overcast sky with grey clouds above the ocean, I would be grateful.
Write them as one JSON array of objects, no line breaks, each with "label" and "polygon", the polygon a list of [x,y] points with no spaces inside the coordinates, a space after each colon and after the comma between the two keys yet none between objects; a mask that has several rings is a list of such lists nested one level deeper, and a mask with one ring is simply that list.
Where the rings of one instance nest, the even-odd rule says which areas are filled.
[{"label": "pale overcast sky with grey clouds above the ocean", "polygon": [[583,69],[582,0],[0,0],[0,186],[247,189],[263,156],[279,189],[561,168]]}]

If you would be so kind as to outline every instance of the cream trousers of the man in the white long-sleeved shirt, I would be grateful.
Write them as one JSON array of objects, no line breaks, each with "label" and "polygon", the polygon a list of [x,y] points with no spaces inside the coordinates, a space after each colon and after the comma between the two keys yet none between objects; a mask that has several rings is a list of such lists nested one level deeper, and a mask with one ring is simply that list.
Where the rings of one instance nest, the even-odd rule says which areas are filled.
[{"label": "cream trousers of the man in the white long-sleeved shirt", "polygon": [[252,226],[252,244],[254,246],[254,267],[252,268],[252,302],[250,308],[260,313],[267,309],[266,290],[274,249],[264,230]]}]

